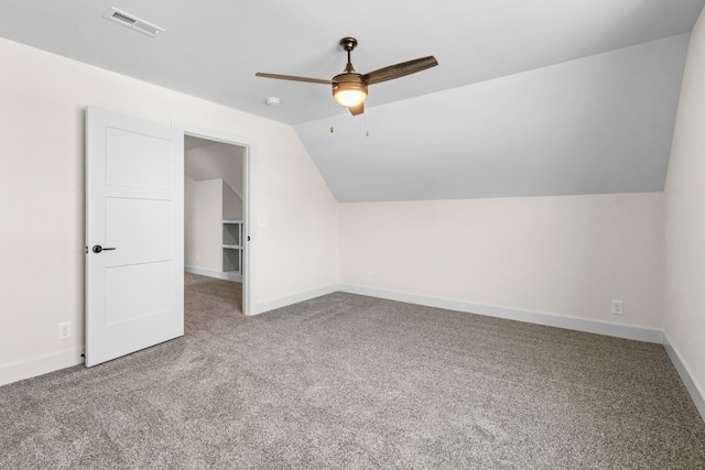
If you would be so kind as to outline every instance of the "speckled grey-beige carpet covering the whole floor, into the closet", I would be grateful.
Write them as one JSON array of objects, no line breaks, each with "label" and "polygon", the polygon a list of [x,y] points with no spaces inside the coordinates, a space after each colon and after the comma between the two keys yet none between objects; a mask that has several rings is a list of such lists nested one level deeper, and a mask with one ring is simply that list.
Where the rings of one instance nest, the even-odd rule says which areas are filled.
[{"label": "speckled grey-beige carpet covering the whole floor, into the closet", "polygon": [[336,293],[0,387],[2,469],[703,469],[658,345]]}]

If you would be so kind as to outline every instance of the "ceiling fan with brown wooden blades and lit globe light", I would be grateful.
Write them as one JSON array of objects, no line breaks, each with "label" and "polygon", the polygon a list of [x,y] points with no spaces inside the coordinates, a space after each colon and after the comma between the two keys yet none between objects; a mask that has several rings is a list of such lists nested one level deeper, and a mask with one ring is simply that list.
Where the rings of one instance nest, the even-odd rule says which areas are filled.
[{"label": "ceiling fan with brown wooden blades and lit globe light", "polygon": [[365,112],[365,98],[367,98],[368,85],[379,84],[382,81],[400,78],[405,75],[415,74],[426,68],[435,67],[438,62],[434,56],[415,58],[388,67],[378,68],[368,74],[359,74],[352,67],[350,62],[350,52],[357,47],[355,37],[343,37],[340,47],[348,53],[348,64],[341,74],[336,75],[330,80],[321,78],[296,77],[293,75],[264,74],[258,72],[258,77],[278,78],[280,80],[307,81],[311,84],[323,84],[333,86],[333,97],[337,102],[347,107],[352,116]]}]

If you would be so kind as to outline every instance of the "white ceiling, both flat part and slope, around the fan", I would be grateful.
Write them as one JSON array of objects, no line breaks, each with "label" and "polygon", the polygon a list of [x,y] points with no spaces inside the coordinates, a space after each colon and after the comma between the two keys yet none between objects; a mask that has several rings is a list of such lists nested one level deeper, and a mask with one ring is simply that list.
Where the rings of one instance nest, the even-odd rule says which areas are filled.
[{"label": "white ceiling, both flat part and slope, around the fan", "polygon": [[[630,193],[663,188],[704,3],[3,0],[0,36],[292,124],[339,201]],[[357,117],[325,85],[254,77],[330,78],[347,35],[360,72],[440,66],[373,85]]]}]

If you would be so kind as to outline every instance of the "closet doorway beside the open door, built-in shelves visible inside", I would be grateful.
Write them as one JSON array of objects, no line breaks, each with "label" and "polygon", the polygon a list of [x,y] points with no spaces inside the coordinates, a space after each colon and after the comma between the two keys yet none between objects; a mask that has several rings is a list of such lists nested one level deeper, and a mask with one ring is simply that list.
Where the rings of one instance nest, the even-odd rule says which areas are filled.
[{"label": "closet doorway beside the open door, built-in shelves visible inside", "polygon": [[250,314],[251,145],[184,127],[184,271],[231,283]]}]

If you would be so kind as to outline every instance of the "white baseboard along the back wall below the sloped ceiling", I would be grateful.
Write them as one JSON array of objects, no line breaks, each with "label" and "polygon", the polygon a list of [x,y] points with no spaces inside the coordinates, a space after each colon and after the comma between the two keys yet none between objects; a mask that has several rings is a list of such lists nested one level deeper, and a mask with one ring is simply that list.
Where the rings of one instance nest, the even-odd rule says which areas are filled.
[{"label": "white baseboard along the back wall below the sloped ceiling", "polygon": [[636,339],[639,341],[655,343],[661,343],[663,341],[663,331],[661,331],[660,329],[644,328],[632,325],[617,325],[607,321],[590,320],[586,318],[565,317],[541,311],[520,310],[517,308],[498,307],[495,305],[475,304],[471,302],[408,294],[403,292],[386,291],[354,284],[341,284],[339,286],[339,289],[341,292],[348,292],[350,294],[360,294],[370,297],[406,302],[410,304],[425,305],[429,307],[446,308],[449,310],[464,311],[468,314],[486,315],[510,320],[527,321],[530,324],[594,332],[598,335],[614,336],[617,338]]}]

